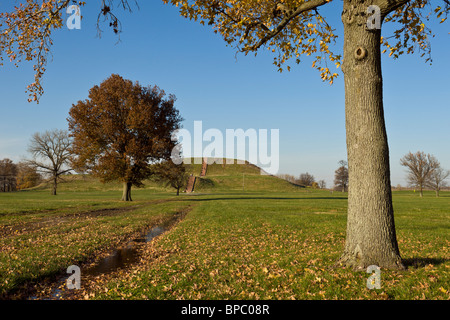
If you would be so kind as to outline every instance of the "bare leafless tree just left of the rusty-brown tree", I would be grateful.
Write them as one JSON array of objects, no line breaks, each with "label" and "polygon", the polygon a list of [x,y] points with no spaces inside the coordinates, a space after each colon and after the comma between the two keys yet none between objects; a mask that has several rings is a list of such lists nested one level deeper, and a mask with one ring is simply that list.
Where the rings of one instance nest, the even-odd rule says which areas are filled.
[{"label": "bare leafless tree just left of the rusty-brown tree", "polygon": [[33,159],[26,163],[36,171],[45,174],[53,182],[52,195],[56,189],[61,175],[72,171],[69,167],[71,160],[71,139],[66,130],[52,130],[44,133],[35,133],[28,147]]}]

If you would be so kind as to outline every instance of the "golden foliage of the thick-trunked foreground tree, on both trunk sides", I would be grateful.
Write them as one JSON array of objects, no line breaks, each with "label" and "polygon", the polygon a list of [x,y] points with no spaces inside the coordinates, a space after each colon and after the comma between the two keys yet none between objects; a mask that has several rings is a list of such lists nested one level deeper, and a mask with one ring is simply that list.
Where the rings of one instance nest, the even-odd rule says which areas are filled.
[{"label": "golden foliage of the thick-trunked foreground tree, on both trunk sides", "polygon": [[[182,16],[211,25],[238,52],[256,55],[258,49],[267,48],[276,54],[274,64],[280,72],[290,70],[288,61],[300,63],[306,55],[314,58],[312,67],[320,72],[322,80],[333,83],[338,76],[328,66],[328,62],[336,68],[342,64],[341,55],[330,50],[337,35],[319,12],[331,0],[163,1],[177,6]],[[434,35],[426,22],[433,14],[440,23],[446,21],[450,2],[443,0],[436,7],[428,0],[397,2],[392,13],[391,5],[385,7],[382,1],[374,2],[381,6],[384,22],[396,23],[397,27],[392,36],[383,38],[384,52],[389,50],[389,56],[397,58],[418,50],[422,57],[428,55],[426,62],[431,61],[429,39]]]}]

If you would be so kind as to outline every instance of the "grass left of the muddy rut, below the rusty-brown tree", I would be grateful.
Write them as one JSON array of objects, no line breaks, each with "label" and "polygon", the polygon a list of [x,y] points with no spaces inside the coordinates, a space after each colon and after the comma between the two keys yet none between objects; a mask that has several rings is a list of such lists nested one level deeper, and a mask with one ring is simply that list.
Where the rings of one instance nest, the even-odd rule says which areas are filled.
[{"label": "grass left of the muddy rut, below the rusty-brown tree", "polygon": [[9,210],[0,209],[0,296],[87,261],[188,207],[167,195],[165,202],[161,195],[140,198],[124,203],[109,192],[1,194],[1,207]]}]

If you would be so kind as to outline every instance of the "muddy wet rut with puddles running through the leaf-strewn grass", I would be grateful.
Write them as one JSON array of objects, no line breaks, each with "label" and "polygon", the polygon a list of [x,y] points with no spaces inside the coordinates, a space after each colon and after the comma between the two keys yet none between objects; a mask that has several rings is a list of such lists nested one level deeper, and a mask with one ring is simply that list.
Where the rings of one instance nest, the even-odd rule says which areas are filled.
[{"label": "muddy wet rut with puddles running through the leaf-strewn grass", "polygon": [[[128,209],[128,208],[127,208]],[[24,283],[21,288],[3,297],[7,300],[77,300],[85,299],[81,292],[89,291],[89,284],[100,277],[115,277],[117,274],[127,272],[141,263],[141,253],[146,245],[155,238],[170,231],[192,210],[187,206],[171,217],[160,218],[154,224],[129,234],[115,247],[104,248],[101,252],[86,261],[79,263],[82,289],[69,290],[67,279],[71,276],[66,270],[58,274]],[[104,212],[106,213],[106,212]]]}]

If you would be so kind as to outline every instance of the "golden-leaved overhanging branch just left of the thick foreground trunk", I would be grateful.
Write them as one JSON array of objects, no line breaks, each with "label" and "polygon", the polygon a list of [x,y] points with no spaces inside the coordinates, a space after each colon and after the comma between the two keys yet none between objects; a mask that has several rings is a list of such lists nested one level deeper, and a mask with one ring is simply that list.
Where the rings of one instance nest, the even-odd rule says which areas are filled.
[{"label": "golden-leaved overhanging branch just left of the thick foreground trunk", "polygon": [[[257,54],[261,47],[277,55],[278,71],[291,69],[288,60],[301,62],[301,56],[312,56],[313,67],[324,81],[338,76],[327,65],[340,66],[341,56],[330,51],[337,35],[320,15],[318,8],[330,0],[311,1],[188,1],[163,0],[180,8],[182,16],[212,25],[228,45],[238,52]],[[286,65],[286,66],[285,66]]]}]

